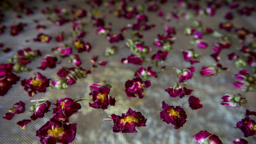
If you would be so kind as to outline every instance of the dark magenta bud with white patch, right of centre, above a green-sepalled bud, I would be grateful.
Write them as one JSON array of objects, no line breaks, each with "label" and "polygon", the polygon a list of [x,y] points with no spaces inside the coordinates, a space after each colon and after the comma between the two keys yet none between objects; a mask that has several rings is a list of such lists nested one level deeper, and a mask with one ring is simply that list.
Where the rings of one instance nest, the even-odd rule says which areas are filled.
[{"label": "dark magenta bud with white patch, right of centre, above a green-sepalled bud", "polygon": [[198,63],[200,61],[199,54],[193,49],[185,50],[182,52],[182,54],[183,54],[184,60],[187,62],[190,62],[191,65],[194,63]]}]

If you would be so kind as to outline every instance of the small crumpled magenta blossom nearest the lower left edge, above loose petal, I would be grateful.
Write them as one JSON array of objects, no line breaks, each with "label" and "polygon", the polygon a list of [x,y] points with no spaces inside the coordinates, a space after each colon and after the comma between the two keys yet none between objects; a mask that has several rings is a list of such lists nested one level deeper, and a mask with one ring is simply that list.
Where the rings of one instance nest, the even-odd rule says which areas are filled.
[{"label": "small crumpled magenta blossom nearest the lower left edge, above loose petal", "polygon": [[19,101],[15,103],[10,109],[8,113],[4,114],[4,119],[11,120],[15,114],[21,114],[25,112],[25,103]]}]

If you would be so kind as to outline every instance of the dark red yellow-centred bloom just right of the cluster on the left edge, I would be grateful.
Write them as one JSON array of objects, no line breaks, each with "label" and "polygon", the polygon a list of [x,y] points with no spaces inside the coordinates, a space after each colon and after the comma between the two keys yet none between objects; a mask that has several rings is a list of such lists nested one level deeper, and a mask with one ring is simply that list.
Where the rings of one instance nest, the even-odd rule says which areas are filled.
[{"label": "dark red yellow-centred bloom just right of the cluster on the left edge", "polygon": [[21,85],[24,86],[24,90],[28,92],[30,97],[37,94],[37,92],[45,93],[46,88],[49,87],[49,83],[50,79],[47,79],[39,72],[37,72],[37,76],[21,81]]}]

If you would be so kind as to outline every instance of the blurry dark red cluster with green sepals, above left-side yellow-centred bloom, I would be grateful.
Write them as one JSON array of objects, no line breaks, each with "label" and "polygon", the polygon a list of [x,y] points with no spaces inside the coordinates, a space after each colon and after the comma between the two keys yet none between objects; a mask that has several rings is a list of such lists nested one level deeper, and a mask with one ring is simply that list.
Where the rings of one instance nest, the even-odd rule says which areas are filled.
[{"label": "blurry dark red cluster with green sepals, above left-side yellow-centred bloom", "polygon": [[31,48],[25,48],[22,50],[18,50],[17,54],[12,58],[9,58],[8,61],[14,63],[13,71],[19,73],[23,71],[29,71],[30,69],[25,66],[35,59],[36,56],[41,56],[41,52],[39,50],[32,51]]}]

